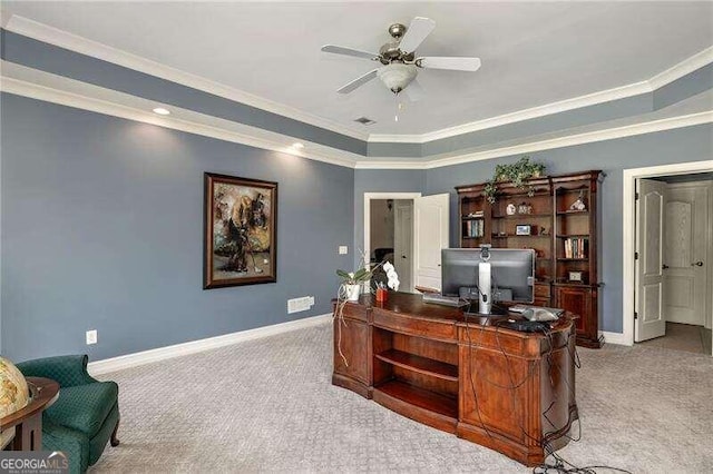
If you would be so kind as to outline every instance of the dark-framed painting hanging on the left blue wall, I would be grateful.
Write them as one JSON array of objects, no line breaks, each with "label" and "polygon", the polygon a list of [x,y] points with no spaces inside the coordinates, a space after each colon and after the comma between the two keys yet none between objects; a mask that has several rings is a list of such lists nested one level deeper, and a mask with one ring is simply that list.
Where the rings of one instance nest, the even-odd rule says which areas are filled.
[{"label": "dark-framed painting hanging on the left blue wall", "polygon": [[277,280],[277,184],[204,174],[203,289]]}]

